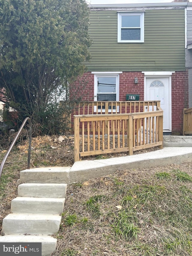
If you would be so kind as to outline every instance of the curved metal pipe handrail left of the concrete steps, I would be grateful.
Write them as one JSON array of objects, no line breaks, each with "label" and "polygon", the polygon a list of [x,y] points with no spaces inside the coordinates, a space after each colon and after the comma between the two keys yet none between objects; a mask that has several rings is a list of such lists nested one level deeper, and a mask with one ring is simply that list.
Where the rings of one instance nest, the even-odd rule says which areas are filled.
[{"label": "curved metal pipe handrail left of the concrete steps", "polygon": [[2,161],[1,166],[0,166],[0,179],[1,179],[1,173],[2,173],[2,170],[3,170],[4,164],[5,164],[6,160],[7,160],[7,157],[9,156],[11,150],[13,149],[13,146],[15,145],[15,143],[16,143],[19,135],[21,134],[21,131],[22,131],[22,129],[23,129],[23,127],[24,127],[24,125],[26,124],[27,121],[29,122],[29,149],[28,149],[27,169],[30,169],[32,124],[31,124],[31,119],[29,117],[26,117],[26,119],[22,122],[22,125],[19,128],[19,131],[17,132],[17,134],[16,134],[14,140],[12,141],[9,149],[7,150],[6,155],[3,158],[3,161]]}]

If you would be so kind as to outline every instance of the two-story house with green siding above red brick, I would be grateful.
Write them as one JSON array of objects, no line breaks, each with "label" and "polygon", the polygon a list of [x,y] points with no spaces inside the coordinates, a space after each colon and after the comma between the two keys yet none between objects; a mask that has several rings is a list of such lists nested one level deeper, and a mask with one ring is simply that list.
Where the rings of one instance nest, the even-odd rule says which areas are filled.
[{"label": "two-story house with green siding above red brick", "polygon": [[89,8],[92,59],[80,79],[88,81],[90,100],[125,101],[126,94],[161,100],[164,132],[182,134],[188,107],[187,2]]}]

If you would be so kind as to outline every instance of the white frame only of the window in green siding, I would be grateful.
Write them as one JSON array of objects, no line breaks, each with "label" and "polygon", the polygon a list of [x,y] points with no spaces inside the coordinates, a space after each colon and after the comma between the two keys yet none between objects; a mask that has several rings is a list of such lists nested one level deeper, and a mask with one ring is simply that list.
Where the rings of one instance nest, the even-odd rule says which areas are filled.
[{"label": "white frame only of the window in green siding", "polygon": [[[144,11],[142,12],[118,12],[118,34],[117,34],[117,42],[118,43],[144,43]],[[140,40],[121,40],[121,20],[122,16],[133,16],[137,15],[140,16]],[[134,29],[134,27],[131,27],[131,29]]]}]

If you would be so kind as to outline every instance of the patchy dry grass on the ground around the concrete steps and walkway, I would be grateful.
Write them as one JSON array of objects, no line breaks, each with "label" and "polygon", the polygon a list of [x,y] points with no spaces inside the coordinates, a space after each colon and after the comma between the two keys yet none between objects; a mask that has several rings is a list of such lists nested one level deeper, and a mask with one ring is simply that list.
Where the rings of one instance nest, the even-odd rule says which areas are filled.
[{"label": "patchy dry grass on the ground around the concrete steps and walkway", "polygon": [[[32,167],[73,164],[73,137],[61,144],[57,138],[33,138]],[[27,141],[19,142],[4,167],[0,228],[16,197],[20,170],[26,168],[27,147]],[[124,170],[69,185],[52,255],[192,255],[191,166]]]}]

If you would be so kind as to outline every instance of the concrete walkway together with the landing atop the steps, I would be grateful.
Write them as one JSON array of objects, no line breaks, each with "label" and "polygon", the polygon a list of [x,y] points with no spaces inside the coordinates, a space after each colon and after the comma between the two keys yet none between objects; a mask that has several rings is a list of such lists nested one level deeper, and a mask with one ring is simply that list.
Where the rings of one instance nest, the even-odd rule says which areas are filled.
[{"label": "concrete walkway together with the landing atop the steps", "polygon": [[73,183],[108,175],[118,170],[180,164],[192,160],[192,147],[164,147],[156,151],[98,160],[77,161],[72,167],[42,167],[23,170],[20,181]]}]

